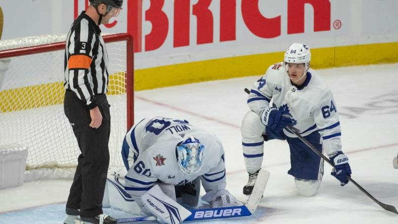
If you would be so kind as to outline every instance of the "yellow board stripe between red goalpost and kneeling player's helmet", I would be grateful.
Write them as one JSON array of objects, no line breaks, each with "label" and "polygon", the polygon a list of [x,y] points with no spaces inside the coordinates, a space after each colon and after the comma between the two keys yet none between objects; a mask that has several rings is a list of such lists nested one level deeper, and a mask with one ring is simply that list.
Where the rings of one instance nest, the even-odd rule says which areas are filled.
[{"label": "yellow board stripe between red goalpost and kneeling player's helmet", "polygon": [[279,62],[276,59],[282,61],[283,53],[254,54],[136,70],[135,90],[259,75],[271,63]]}]

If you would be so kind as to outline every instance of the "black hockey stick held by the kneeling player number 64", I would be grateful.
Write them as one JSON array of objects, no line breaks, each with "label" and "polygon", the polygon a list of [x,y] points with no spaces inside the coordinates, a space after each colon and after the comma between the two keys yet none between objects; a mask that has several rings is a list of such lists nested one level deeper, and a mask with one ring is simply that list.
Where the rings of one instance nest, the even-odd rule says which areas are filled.
[{"label": "black hockey stick held by the kneeling player number 64", "polygon": [[[244,89],[244,91],[249,94],[250,90],[248,90],[247,88]],[[303,136],[300,135],[299,130],[297,130],[296,128],[293,127],[289,127],[287,126],[286,129],[288,131],[290,131],[291,133],[293,133],[294,135],[296,135],[301,141],[303,141],[308,147],[310,147],[310,149],[312,151],[314,151],[317,155],[319,155],[321,158],[323,158],[327,163],[329,163],[333,168],[334,165],[333,163],[329,160],[329,158],[327,158],[325,155],[323,155],[321,152],[319,152],[318,150],[316,150],[316,148],[310,143],[308,142]],[[351,182],[353,182],[353,184],[355,186],[357,186],[357,188],[359,188],[363,193],[365,193],[368,197],[370,197],[374,202],[376,202],[378,205],[380,205],[382,208],[384,208],[387,211],[390,212],[394,212],[395,214],[398,214],[398,212],[396,211],[395,207],[392,205],[388,205],[388,204],[384,204],[380,201],[378,201],[375,197],[373,197],[371,194],[369,194],[369,192],[367,192],[363,187],[361,187],[361,185],[359,185],[357,182],[355,182],[351,176],[347,176],[347,179]]]}]

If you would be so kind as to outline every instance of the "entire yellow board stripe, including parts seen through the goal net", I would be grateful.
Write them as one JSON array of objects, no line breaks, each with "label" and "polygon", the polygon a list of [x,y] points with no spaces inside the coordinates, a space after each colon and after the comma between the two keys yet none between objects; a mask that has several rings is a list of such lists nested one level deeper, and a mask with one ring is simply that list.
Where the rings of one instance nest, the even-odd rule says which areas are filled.
[{"label": "entire yellow board stripe, including parts seen through the goal net", "polygon": [[[311,49],[311,67],[358,66],[398,62],[398,42]],[[190,62],[134,72],[135,90],[154,89],[194,82],[261,76],[272,64],[283,61],[283,52],[263,53]],[[108,94],[125,93],[124,72],[110,74]],[[0,92],[0,111],[8,112],[63,103],[63,82]],[[16,100],[17,102],[11,102]]]}]

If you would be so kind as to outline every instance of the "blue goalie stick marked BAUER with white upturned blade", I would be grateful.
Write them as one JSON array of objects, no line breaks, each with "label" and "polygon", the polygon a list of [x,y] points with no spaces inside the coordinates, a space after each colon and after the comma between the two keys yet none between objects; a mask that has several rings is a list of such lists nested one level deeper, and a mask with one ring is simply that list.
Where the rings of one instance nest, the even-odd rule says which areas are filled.
[{"label": "blue goalie stick marked BAUER with white upturned blade", "polygon": [[[265,187],[267,186],[270,173],[261,169],[254,185],[253,191],[247,203],[241,206],[220,207],[220,208],[204,208],[189,210],[192,214],[184,219],[184,221],[208,220],[217,218],[232,218],[252,215],[263,197]],[[152,221],[157,220],[154,216],[119,218],[117,223],[134,222],[134,221]]]}]

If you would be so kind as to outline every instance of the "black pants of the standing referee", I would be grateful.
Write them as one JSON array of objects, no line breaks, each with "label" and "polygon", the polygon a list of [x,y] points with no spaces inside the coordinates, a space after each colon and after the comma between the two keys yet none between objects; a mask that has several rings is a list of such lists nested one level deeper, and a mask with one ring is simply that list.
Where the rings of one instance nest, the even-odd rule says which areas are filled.
[{"label": "black pants of the standing referee", "polygon": [[99,128],[89,126],[89,109],[74,92],[65,92],[64,111],[76,136],[81,154],[69,192],[67,208],[80,209],[81,217],[102,214],[102,201],[109,166],[111,115],[105,94],[95,96],[103,120]]}]

